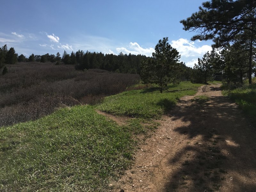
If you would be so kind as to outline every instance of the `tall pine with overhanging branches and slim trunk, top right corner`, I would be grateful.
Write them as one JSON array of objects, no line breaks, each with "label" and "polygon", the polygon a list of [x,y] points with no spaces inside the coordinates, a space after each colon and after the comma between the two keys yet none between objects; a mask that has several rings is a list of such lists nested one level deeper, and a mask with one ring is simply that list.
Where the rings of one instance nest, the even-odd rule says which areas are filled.
[{"label": "tall pine with overhanging branches and slim trunk, top right corner", "polygon": [[253,41],[256,36],[255,0],[211,0],[203,3],[199,11],[180,21],[184,30],[196,31],[192,40],[212,39],[215,47],[235,43],[244,36],[249,43],[248,78],[252,84]]}]

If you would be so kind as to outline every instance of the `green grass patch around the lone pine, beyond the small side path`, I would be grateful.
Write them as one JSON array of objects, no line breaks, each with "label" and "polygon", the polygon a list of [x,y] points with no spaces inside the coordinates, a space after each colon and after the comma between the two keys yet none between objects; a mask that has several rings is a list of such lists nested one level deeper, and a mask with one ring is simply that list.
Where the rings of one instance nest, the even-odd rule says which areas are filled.
[{"label": "green grass patch around the lone pine, beyond the small side path", "polygon": [[105,98],[98,106],[101,111],[118,116],[159,118],[185,95],[194,95],[202,84],[181,82],[169,85],[168,92],[160,93],[157,87],[131,90]]}]

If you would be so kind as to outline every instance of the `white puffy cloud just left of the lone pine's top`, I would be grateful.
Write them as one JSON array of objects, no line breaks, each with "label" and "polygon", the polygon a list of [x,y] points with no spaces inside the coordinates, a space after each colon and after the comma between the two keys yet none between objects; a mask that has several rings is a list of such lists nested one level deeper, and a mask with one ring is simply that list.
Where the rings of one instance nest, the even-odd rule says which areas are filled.
[{"label": "white puffy cloud just left of the lone pine's top", "polygon": [[138,43],[130,43],[129,45],[129,50],[126,49],[125,47],[121,47],[121,48],[116,48],[116,51],[117,52],[123,52],[123,53],[126,53],[126,54],[134,54],[134,55],[138,55],[138,54],[141,54],[141,55],[146,55],[148,57],[152,56],[152,52],[155,52],[155,50],[150,47],[150,48],[142,48]]}]

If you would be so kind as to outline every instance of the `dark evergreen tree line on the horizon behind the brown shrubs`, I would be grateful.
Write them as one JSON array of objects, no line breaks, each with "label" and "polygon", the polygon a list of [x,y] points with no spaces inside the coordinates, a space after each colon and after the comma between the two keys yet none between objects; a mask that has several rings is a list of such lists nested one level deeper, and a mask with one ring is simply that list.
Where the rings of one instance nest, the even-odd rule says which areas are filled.
[{"label": "dark evergreen tree line on the horizon behind the brown shrubs", "polygon": [[[134,55],[134,54],[124,54],[120,52],[118,55],[114,54],[103,54],[102,52],[89,52],[78,50],[77,52],[71,52],[68,54],[65,50],[60,55],[57,52],[54,54],[44,54],[44,55],[34,55],[33,53],[27,58],[23,54],[19,55],[15,53],[13,47],[7,50],[7,45],[5,44],[0,48],[0,69],[5,66],[5,64],[15,64],[16,62],[42,62],[45,63],[55,62],[56,65],[74,65],[77,70],[85,70],[98,68],[108,71],[115,71],[120,73],[132,73],[139,74],[141,69],[141,60],[147,58],[145,55]],[[6,68],[6,67],[5,67]]]}]

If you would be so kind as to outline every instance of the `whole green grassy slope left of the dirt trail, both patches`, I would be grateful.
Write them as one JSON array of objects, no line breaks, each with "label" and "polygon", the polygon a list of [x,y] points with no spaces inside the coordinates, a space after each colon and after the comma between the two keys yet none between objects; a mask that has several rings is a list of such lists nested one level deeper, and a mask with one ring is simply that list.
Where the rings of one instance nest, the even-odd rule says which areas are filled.
[{"label": "whole green grassy slope left of the dirt trail, both patches", "polygon": [[132,90],[106,98],[98,108],[135,118],[125,126],[93,106],[60,109],[36,121],[0,128],[0,191],[103,191],[131,163],[133,134],[155,129],[157,118],[200,84],[181,82],[160,94]]}]

